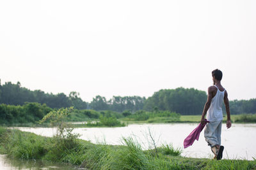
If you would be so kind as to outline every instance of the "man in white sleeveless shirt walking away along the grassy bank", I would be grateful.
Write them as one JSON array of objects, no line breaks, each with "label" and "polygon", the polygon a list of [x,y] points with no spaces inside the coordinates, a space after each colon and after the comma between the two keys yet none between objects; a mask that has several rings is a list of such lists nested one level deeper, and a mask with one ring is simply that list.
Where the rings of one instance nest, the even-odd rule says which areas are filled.
[{"label": "man in white sleeveless shirt walking away along the grassy bank", "polygon": [[231,127],[228,93],[221,85],[222,72],[219,69],[212,71],[213,86],[208,88],[207,102],[202,113],[201,124],[205,122],[205,114],[209,123],[205,127],[204,137],[214,153],[214,159],[220,160],[224,146],[221,146],[221,124],[223,120],[223,101],[227,112],[227,128]]}]

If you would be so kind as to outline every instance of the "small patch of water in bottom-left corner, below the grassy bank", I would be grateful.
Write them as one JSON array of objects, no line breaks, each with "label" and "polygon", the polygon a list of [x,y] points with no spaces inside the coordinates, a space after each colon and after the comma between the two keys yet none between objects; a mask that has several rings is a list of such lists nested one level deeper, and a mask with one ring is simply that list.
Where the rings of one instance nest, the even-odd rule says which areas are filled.
[{"label": "small patch of water in bottom-left corner, below the grassy bank", "polygon": [[0,169],[1,170],[72,170],[73,167],[63,165],[63,164],[54,164],[51,162],[42,162],[40,160],[19,160],[19,159],[9,159],[6,155],[0,155]]}]

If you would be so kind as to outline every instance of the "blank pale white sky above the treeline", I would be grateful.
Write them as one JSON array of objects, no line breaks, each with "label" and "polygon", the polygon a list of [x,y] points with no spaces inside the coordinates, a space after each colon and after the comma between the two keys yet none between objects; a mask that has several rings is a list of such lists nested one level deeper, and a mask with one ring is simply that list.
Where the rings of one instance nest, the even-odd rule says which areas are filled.
[{"label": "blank pale white sky above the treeline", "polygon": [[256,98],[256,1],[3,1],[0,79],[31,90],[149,97],[207,91]]}]

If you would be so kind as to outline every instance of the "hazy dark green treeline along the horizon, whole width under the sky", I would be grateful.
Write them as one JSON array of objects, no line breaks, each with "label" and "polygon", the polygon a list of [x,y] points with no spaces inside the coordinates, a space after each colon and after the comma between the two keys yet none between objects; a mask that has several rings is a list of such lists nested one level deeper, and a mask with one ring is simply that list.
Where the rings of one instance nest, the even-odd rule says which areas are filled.
[{"label": "hazy dark green treeline along the horizon, whole width under the sky", "polygon": [[[42,90],[29,90],[21,87],[20,83],[0,81],[0,104],[23,105],[26,102],[46,104],[50,108],[66,108],[74,106],[77,110],[111,110],[119,113],[129,110],[132,113],[139,110],[156,111],[166,110],[180,113],[181,115],[200,115],[207,100],[206,92],[196,89],[164,89],[155,92],[153,96],[113,96],[107,100],[105,97],[96,96],[92,102],[86,103],[79,97],[79,93],[70,92],[68,96],[63,93],[48,94]],[[225,113],[225,107],[223,105]],[[230,101],[231,114],[256,113],[256,99]],[[1,114],[1,113],[0,113]]]}]

